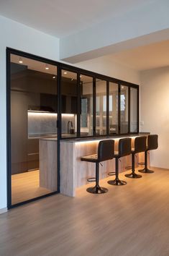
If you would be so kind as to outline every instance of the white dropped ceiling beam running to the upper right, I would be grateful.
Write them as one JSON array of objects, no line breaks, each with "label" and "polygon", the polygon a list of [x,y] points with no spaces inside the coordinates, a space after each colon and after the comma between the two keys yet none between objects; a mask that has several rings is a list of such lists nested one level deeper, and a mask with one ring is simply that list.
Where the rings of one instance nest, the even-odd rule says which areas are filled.
[{"label": "white dropped ceiling beam running to the upper right", "polygon": [[[127,2],[127,1],[126,1]],[[76,63],[168,39],[169,1],[151,1],[130,12],[60,39],[60,59]]]}]

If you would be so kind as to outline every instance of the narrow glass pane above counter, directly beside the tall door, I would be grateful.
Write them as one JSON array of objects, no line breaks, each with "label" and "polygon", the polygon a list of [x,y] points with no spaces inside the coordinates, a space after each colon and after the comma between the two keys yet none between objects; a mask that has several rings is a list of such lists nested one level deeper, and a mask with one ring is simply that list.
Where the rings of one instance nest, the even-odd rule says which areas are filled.
[{"label": "narrow glass pane above counter, directly beside the tall door", "polygon": [[62,70],[61,77],[61,113],[62,137],[76,137],[78,90],[77,74]]}]

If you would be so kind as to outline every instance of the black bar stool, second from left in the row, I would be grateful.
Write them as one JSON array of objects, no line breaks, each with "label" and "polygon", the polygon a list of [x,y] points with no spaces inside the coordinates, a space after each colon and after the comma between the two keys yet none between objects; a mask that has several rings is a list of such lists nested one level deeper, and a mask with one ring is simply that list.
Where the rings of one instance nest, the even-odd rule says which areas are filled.
[{"label": "black bar stool, second from left in the row", "polygon": [[114,158],[116,158],[116,179],[110,180],[108,182],[111,185],[122,186],[127,184],[127,182],[119,180],[119,158],[130,155],[132,153],[131,142],[131,138],[124,138],[119,140],[119,151],[115,152],[114,154]]}]

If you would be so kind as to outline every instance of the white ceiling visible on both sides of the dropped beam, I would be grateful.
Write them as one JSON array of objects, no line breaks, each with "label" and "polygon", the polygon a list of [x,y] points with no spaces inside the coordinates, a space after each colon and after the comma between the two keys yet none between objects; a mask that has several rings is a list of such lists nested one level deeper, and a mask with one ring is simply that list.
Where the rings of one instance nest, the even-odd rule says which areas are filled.
[{"label": "white ceiling visible on both sides of the dropped beam", "polygon": [[[64,37],[157,0],[0,0],[0,14],[45,33]],[[103,56],[132,69],[169,66],[169,40]],[[32,67],[42,70],[44,67]],[[50,74],[55,74],[51,67]]]}]

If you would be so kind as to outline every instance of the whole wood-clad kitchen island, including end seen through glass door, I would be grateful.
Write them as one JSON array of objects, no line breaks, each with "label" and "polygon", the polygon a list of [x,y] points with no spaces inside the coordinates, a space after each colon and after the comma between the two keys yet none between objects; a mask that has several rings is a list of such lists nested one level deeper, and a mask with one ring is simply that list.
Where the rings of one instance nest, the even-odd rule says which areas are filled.
[{"label": "whole wood-clad kitchen island, including end seen through glass door", "polygon": [[[87,179],[95,176],[95,164],[81,161],[85,155],[97,153],[100,140],[112,139],[115,141],[115,150],[118,150],[120,138],[131,137],[132,148],[134,138],[137,136],[149,135],[140,133],[137,135],[120,135],[111,137],[75,138],[60,140],[60,192],[71,197],[76,196],[76,189],[88,184]],[[135,166],[144,161],[144,153],[137,154]],[[126,171],[127,166],[131,166],[132,155],[121,158],[119,162],[119,172]],[[108,176],[110,171],[115,171],[115,159],[102,162],[100,166],[100,179]],[[58,179],[57,165],[57,138],[47,138],[40,140],[40,184],[48,189],[57,189]]]}]

